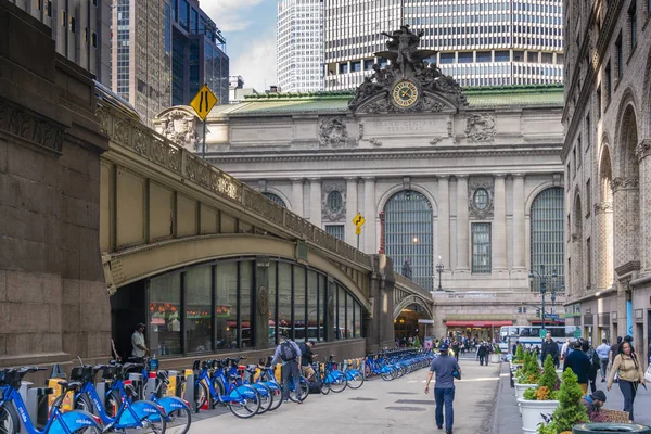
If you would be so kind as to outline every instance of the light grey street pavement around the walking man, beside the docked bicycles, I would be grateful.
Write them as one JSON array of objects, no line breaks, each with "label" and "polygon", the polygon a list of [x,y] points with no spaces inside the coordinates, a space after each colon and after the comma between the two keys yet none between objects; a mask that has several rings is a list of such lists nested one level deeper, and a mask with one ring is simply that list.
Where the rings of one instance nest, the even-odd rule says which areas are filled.
[{"label": "light grey street pavement around the walking man, beside the docked bicycles", "polygon": [[[489,434],[500,366],[480,367],[461,359],[462,380],[456,382],[455,426],[458,434]],[[321,433],[439,433],[434,420],[434,396],[425,395],[426,369],[391,382],[374,378],[359,390],[310,395],[301,405],[283,404],[278,410],[252,419],[238,419],[224,409],[202,411],[191,434],[228,430],[238,434]],[[431,388],[433,388],[431,385]],[[218,414],[210,417],[213,414]]]}]

